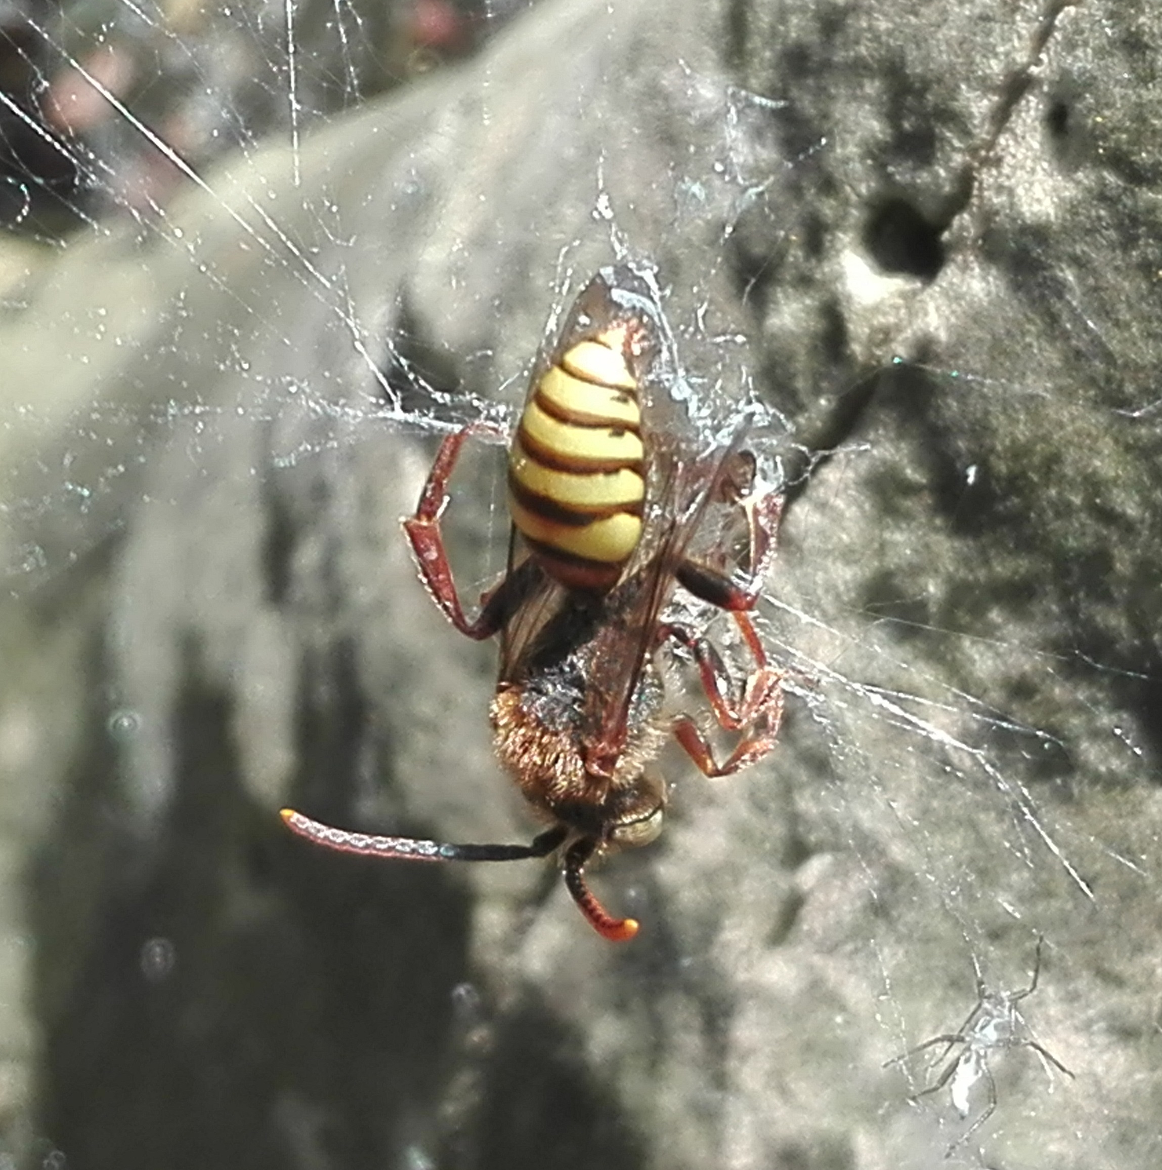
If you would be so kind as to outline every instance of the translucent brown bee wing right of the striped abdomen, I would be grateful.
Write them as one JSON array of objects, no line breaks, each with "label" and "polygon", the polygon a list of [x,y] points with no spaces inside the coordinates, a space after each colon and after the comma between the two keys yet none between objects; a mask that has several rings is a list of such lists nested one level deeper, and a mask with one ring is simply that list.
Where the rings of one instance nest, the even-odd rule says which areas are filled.
[{"label": "translucent brown bee wing right of the striped abdomen", "polygon": [[661,435],[653,439],[653,505],[660,508],[663,518],[655,522],[659,529],[646,545],[642,560],[618,586],[627,590],[626,605],[599,635],[603,645],[593,655],[586,687],[586,741],[601,759],[616,759],[624,750],[630,707],[654,649],[659,617],[673,590],[674,573],[748,429],[744,420],[727,443],[709,453],[683,450]]}]

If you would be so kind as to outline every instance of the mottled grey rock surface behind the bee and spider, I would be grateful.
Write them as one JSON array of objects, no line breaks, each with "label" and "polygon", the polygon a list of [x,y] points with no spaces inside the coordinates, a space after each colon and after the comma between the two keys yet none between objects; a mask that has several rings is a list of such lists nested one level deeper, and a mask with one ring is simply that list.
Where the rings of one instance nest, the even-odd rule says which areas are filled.
[{"label": "mottled grey rock surface behind the bee and spider", "polygon": [[[910,1106],[936,1072],[882,1065],[960,1024],[974,957],[1026,986],[1044,935],[1020,1035],[1077,1079],[991,1052],[949,1164],[1156,1166],[1160,25],[546,0],[9,292],[13,1149],[933,1166],[986,1076],[962,1121],[964,1076]],[[763,764],[675,753],[666,833],[594,872],[644,923],[624,947],[549,867],[364,863],[276,814],[529,834],[491,651],[397,528],[431,438],[376,411],[518,400],[612,233],[692,370],[726,395],[745,363],[789,422],[762,612],[798,672]],[[497,455],[448,512],[467,594],[504,544]]]}]

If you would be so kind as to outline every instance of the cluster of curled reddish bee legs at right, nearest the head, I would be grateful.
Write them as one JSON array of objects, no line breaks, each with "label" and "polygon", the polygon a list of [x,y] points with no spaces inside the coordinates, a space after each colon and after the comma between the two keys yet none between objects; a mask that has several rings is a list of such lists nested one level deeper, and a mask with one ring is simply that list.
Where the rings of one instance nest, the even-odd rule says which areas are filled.
[{"label": "cluster of curled reddish bee legs at right, nearest the head", "polygon": [[743,732],[726,763],[720,764],[707,738],[697,724],[688,716],[674,720],[674,735],[690,759],[707,776],[730,776],[740,769],[761,759],[775,746],[779,724],[783,722],[784,673],[766,661],[766,652],[749,614],[735,611],[735,621],[748,649],[755,659],[755,667],[747,675],[742,694],[731,695],[731,680],[722,656],[704,638],[683,626],[662,625],[658,639],[673,638],[694,655],[702,681],[702,689],[710,702],[718,725],[727,731]]}]

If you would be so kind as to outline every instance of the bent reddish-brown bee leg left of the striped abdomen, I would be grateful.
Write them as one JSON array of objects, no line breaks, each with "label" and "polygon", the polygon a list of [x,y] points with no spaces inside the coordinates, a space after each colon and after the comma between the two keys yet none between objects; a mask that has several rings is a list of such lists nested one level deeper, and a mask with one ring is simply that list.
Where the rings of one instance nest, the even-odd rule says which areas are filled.
[{"label": "bent reddish-brown bee leg left of the striped abdomen", "polygon": [[460,594],[456,592],[456,585],[452,578],[452,565],[448,562],[444,537],[440,534],[440,516],[448,504],[448,480],[456,460],[460,457],[460,448],[469,435],[484,429],[487,428],[463,427],[448,435],[440,443],[435,462],[432,464],[427,482],[424,484],[415,515],[404,521],[404,531],[411,542],[420,577],[427,586],[432,600],[460,633],[477,641],[491,638],[504,625],[518,604],[518,597],[515,594],[528,587],[528,574],[521,581],[515,580],[513,574],[506,577],[500,585],[484,594],[481,599],[480,613],[469,621],[465,615],[460,604]]}]

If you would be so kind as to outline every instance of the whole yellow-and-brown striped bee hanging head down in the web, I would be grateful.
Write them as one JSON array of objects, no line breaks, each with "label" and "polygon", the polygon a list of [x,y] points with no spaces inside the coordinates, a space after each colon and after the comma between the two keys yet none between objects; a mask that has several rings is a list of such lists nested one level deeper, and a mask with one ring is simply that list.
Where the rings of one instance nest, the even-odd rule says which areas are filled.
[{"label": "whole yellow-and-brown striped bee hanging head down in the web", "polygon": [[[420,578],[468,638],[499,636],[490,718],[497,757],[545,830],[528,845],[453,845],[323,825],[283,810],[288,827],[346,853],[415,861],[513,861],[559,853],[565,886],[611,941],[634,918],[611,915],[585,882],[598,854],[661,832],[665,782],[653,764],[674,735],[710,777],[764,756],[783,715],[783,673],[751,621],[775,552],[781,500],[757,481],[745,424],[706,443],[666,421],[655,295],[630,264],[583,289],[534,371],[508,454],[508,564],[468,618],[440,532],[467,427],[441,443],[415,515],[404,521]],[[693,549],[711,512],[745,522],[747,551],[728,571],[723,545]],[[702,541],[701,543],[706,543]],[[728,611],[752,659],[738,687],[699,631],[663,620],[681,589]],[[685,648],[717,723],[737,734],[718,762],[687,714],[667,715],[659,654]]]}]

